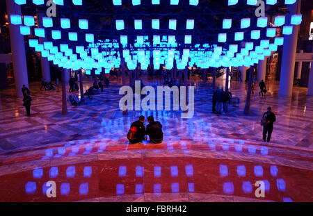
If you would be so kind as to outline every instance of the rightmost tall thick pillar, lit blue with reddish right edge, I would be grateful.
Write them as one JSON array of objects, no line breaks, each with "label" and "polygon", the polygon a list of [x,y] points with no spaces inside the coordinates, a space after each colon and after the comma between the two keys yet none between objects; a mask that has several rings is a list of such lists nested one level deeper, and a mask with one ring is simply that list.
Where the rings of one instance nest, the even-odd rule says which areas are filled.
[{"label": "rightmost tall thick pillar, lit blue with reddish right edge", "polygon": [[[291,15],[300,14],[301,0],[289,5],[289,15],[287,15],[287,24],[290,23]],[[280,92],[279,96],[291,97],[292,86],[294,84],[294,67],[296,61],[296,49],[298,42],[299,26],[294,26],[294,32],[291,35],[284,35],[284,47],[282,49],[282,67],[280,71]]]}]

